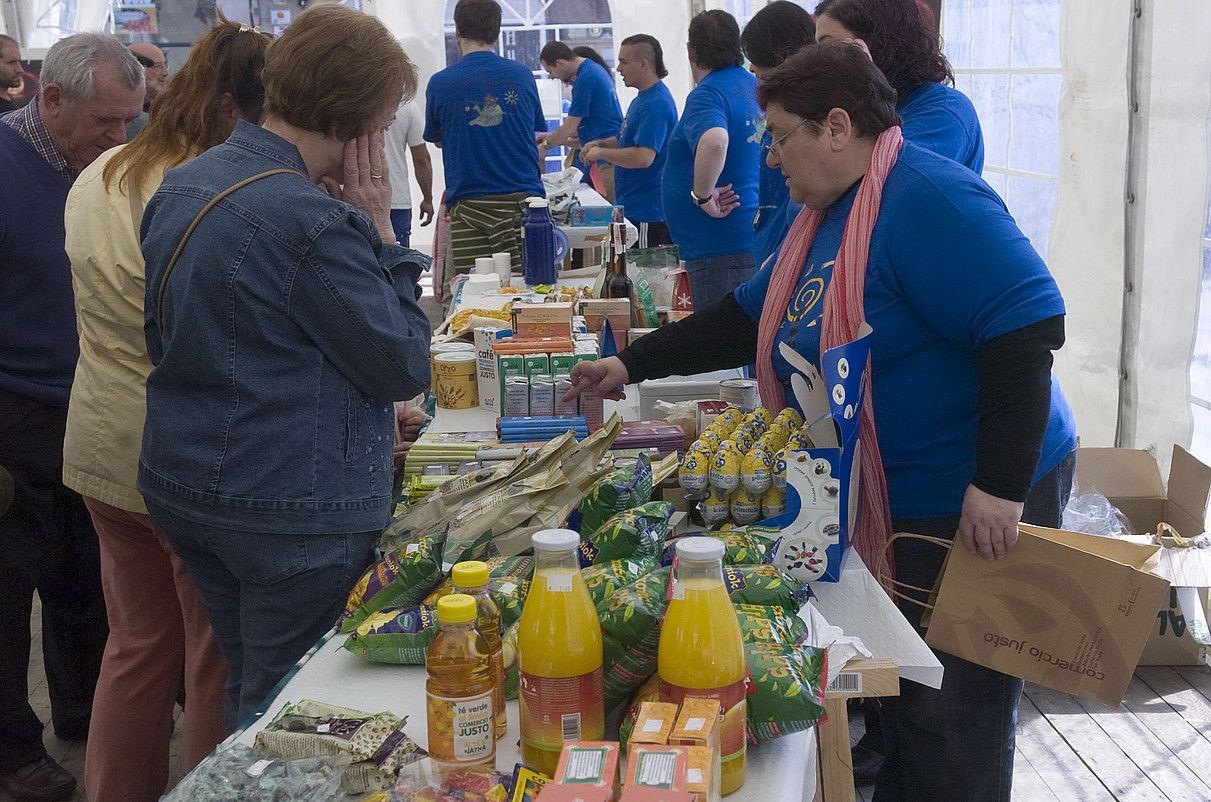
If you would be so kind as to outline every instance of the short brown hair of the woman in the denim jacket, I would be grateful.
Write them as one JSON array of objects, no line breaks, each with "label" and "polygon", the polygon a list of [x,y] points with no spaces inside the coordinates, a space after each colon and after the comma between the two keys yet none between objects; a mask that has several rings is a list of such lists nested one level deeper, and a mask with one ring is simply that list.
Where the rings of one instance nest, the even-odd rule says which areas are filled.
[{"label": "short brown hair of the woman in the denim jacket", "polygon": [[417,93],[417,65],[386,27],[335,4],[300,13],[269,48],[262,78],[266,114],[340,141]]}]

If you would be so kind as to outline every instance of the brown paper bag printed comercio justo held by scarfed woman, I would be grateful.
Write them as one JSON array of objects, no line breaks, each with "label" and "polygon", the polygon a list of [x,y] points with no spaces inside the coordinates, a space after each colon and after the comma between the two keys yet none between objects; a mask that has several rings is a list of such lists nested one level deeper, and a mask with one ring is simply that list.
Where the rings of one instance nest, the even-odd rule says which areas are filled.
[{"label": "brown paper bag printed comercio justo held by scarfed woman", "polygon": [[1118,706],[1169,592],[1159,546],[1022,525],[989,562],[947,555],[925,642],[1031,682]]}]

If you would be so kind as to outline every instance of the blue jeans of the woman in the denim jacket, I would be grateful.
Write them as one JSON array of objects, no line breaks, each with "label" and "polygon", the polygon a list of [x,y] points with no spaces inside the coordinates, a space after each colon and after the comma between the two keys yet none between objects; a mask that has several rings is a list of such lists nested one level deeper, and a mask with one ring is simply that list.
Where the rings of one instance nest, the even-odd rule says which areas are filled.
[{"label": "blue jeans of the woman in the denim jacket", "polygon": [[206,605],[228,664],[234,731],[332,628],[379,532],[260,534],[195,523],[150,500],[148,511]]}]

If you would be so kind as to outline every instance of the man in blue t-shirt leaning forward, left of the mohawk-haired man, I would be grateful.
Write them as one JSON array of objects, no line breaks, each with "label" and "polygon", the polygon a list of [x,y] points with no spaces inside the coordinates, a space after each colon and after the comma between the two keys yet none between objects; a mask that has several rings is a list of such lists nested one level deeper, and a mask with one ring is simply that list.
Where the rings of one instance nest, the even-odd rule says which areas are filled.
[{"label": "man in blue t-shirt leaning forward, left of the mohawk-haired man", "polygon": [[[572,52],[562,41],[549,41],[539,53],[543,69],[553,79],[572,82],[572,107],[563,124],[539,137],[539,153],[546,157],[551,148],[575,142],[578,145],[616,137],[622,127],[622,107],[618,103],[614,80],[598,64]],[[581,154],[581,159],[584,155]],[[598,193],[614,202],[614,165],[584,160],[589,179]],[[596,173],[596,174],[595,174]]]}]

